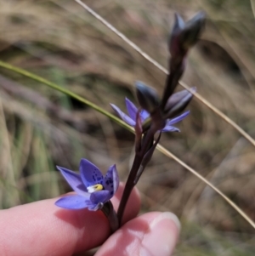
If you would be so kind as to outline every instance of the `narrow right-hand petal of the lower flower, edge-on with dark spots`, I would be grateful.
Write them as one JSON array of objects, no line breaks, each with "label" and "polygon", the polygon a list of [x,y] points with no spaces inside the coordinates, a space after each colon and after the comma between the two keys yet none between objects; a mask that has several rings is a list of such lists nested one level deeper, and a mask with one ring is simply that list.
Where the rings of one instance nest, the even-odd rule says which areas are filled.
[{"label": "narrow right-hand petal of the lower flower, edge-on with dark spots", "polygon": [[110,196],[112,197],[116,193],[119,183],[119,175],[116,170],[116,165],[114,164],[108,169],[107,173],[105,174],[103,186],[106,191],[110,191]]}]

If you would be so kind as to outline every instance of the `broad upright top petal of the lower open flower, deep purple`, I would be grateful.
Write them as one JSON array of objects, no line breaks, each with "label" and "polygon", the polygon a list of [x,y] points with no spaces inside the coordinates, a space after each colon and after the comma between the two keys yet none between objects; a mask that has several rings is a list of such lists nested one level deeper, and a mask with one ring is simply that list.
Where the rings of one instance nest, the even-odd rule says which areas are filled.
[{"label": "broad upright top petal of the lower open flower, deep purple", "polygon": [[94,163],[89,162],[87,159],[82,159],[80,162],[80,174],[82,182],[86,187],[96,184],[103,185],[103,174],[100,172]]}]

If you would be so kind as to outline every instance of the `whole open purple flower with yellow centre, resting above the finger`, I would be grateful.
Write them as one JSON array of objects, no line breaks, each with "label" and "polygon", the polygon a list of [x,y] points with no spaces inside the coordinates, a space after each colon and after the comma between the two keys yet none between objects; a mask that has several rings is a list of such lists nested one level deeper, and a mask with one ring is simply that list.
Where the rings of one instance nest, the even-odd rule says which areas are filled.
[{"label": "whole open purple flower with yellow centre, resting above the finger", "polygon": [[80,162],[80,174],[59,166],[57,168],[71,188],[77,192],[77,195],[64,196],[55,202],[60,208],[88,208],[97,211],[111,199],[119,186],[115,164],[108,169],[105,177],[99,168],[87,159],[82,159]]}]

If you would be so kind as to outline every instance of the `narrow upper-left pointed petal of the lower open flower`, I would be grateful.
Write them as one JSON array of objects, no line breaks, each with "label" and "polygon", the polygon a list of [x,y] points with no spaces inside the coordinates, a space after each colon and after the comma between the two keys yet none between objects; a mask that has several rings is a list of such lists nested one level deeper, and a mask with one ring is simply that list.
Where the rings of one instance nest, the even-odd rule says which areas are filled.
[{"label": "narrow upper-left pointed petal of the lower open flower", "polygon": [[77,192],[78,195],[87,195],[87,188],[82,183],[80,174],[77,174],[69,169],[57,166],[61,174],[65,177],[66,181],[71,185],[71,188]]}]

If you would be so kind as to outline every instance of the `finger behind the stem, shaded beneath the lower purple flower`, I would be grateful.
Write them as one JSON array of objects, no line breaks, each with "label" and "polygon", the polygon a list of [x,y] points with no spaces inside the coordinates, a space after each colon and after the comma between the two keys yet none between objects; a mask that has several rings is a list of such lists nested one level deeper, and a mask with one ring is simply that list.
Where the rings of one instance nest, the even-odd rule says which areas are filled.
[{"label": "finger behind the stem, shaded beneath the lower purple flower", "polygon": [[[119,203],[120,185],[113,205]],[[67,210],[42,200],[0,211],[1,255],[65,256],[99,246],[110,235],[109,222],[101,211]],[[138,191],[133,191],[124,219],[139,213]]]}]

